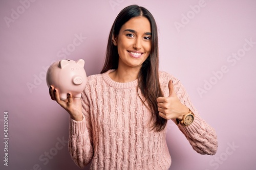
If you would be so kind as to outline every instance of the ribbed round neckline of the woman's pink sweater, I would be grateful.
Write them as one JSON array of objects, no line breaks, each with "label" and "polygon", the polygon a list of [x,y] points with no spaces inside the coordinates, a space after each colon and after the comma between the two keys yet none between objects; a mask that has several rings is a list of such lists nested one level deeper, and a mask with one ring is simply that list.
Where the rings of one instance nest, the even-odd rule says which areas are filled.
[{"label": "ribbed round neckline of the woman's pink sweater", "polygon": [[110,72],[113,72],[115,69],[110,69],[102,74],[103,80],[106,82],[111,87],[114,88],[132,88],[132,87],[137,87],[138,85],[138,79],[131,81],[131,82],[126,82],[126,83],[120,83],[120,82],[115,82],[112,80],[109,76]]}]

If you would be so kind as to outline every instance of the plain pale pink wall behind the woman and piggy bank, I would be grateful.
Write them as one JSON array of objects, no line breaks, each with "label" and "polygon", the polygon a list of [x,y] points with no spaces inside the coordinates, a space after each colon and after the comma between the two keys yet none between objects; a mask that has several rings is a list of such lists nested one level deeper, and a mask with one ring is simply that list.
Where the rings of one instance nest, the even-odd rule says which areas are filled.
[{"label": "plain pale pink wall behind the woman and piggy bank", "polygon": [[170,169],[256,168],[256,1],[20,0],[0,2],[1,141],[9,114],[9,162],[1,142],[0,169],[79,169],[68,153],[69,115],[51,101],[46,69],[82,58],[88,76],[98,74],[112,23],[132,4],[154,15],[160,69],[181,80],[218,135],[217,154],[199,155],[169,123]]}]

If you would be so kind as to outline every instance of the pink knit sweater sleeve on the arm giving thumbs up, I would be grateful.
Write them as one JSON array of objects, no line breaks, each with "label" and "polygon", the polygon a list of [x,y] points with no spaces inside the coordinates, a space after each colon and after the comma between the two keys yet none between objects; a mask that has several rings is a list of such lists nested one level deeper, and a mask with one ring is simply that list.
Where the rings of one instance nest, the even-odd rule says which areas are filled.
[{"label": "pink knit sweater sleeve on the arm giving thumbs up", "polygon": [[[177,78],[167,74],[166,72],[161,72],[160,75],[160,82],[165,96],[168,96],[169,93],[168,82],[169,80],[173,80],[174,90],[178,99],[195,114],[194,122],[191,125],[178,125],[180,131],[185,135],[193,149],[199,154],[216,154],[218,141],[215,129],[208,125],[199,115],[198,111],[191,103],[184,86]],[[173,121],[175,122],[175,119]]]}]

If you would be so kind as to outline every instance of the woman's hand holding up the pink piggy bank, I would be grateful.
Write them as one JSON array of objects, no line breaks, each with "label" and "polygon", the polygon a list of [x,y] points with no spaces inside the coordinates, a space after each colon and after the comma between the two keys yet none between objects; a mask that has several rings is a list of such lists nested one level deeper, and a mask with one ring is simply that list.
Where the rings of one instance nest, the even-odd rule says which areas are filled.
[{"label": "woman's hand holding up the pink piggy bank", "polygon": [[74,120],[81,121],[83,119],[81,99],[73,98],[72,94],[68,93],[66,100],[60,100],[58,89],[55,89],[53,86],[50,86],[49,94],[51,99],[65,109]]}]

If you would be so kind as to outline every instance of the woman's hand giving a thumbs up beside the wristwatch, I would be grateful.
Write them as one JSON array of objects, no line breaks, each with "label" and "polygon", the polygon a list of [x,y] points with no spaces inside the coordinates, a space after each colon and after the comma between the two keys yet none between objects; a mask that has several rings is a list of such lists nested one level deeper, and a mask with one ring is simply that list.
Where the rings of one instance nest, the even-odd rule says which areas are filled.
[{"label": "woman's hand giving a thumbs up beside the wristwatch", "polygon": [[189,109],[179,101],[172,80],[169,81],[168,88],[169,96],[167,98],[157,98],[159,115],[165,119],[178,118],[181,120],[182,116],[189,112]]}]

